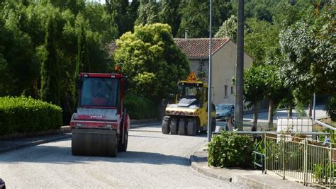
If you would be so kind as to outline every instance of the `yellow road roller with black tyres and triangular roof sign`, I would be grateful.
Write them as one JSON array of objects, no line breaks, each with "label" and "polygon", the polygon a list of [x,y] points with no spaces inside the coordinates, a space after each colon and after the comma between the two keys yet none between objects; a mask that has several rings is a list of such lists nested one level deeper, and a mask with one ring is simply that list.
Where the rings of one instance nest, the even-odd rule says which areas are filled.
[{"label": "yellow road roller with black tyres and triangular roof sign", "polygon": [[[194,136],[208,130],[208,84],[191,71],[179,81],[174,104],[168,104],[162,120],[162,133]],[[215,105],[211,105],[211,130],[215,131]]]}]

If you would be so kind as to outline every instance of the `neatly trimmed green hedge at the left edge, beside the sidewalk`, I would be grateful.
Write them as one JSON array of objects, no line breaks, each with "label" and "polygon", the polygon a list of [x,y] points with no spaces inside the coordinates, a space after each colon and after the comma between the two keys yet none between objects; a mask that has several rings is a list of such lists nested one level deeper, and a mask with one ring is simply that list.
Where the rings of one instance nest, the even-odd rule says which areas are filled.
[{"label": "neatly trimmed green hedge at the left edge, beside the sidewalk", "polygon": [[31,97],[0,98],[0,135],[62,126],[62,108]]}]

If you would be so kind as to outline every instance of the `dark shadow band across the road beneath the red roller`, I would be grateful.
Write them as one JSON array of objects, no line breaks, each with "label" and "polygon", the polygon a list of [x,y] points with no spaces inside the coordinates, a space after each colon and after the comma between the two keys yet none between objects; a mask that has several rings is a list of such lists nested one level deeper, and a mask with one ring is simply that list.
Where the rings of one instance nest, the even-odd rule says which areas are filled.
[{"label": "dark shadow band across the road beneath the red roller", "polygon": [[[30,152],[31,151],[31,152]],[[13,152],[13,151],[12,151]],[[16,154],[0,155],[1,164],[42,163],[42,164],[91,164],[105,161],[111,164],[177,164],[189,166],[189,159],[147,151],[118,152],[117,157],[73,156],[71,147],[36,146],[17,151]]]}]

